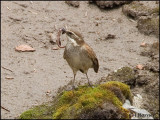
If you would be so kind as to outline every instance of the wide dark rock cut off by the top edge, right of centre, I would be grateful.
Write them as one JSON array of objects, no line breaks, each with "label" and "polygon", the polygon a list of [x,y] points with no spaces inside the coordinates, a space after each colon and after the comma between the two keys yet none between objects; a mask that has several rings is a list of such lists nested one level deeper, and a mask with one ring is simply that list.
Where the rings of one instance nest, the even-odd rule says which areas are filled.
[{"label": "wide dark rock cut off by the top edge, right of centre", "polygon": [[94,1],[100,8],[113,8],[114,6],[130,3],[131,1]]}]

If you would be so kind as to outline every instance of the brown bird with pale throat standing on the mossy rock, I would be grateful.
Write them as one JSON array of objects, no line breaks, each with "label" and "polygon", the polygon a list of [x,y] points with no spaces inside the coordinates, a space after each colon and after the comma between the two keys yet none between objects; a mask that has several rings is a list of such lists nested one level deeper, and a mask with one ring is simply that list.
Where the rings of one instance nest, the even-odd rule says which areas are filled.
[{"label": "brown bird with pale throat standing on the mossy rock", "polygon": [[78,70],[86,74],[88,84],[91,86],[87,72],[89,68],[93,68],[96,73],[98,72],[99,63],[96,54],[93,49],[85,43],[79,32],[62,29],[62,34],[66,34],[68,38],[63,58],[66,59],[73,70],[74,79],[72,81],[72,88],[75,88],[74,82]]}]

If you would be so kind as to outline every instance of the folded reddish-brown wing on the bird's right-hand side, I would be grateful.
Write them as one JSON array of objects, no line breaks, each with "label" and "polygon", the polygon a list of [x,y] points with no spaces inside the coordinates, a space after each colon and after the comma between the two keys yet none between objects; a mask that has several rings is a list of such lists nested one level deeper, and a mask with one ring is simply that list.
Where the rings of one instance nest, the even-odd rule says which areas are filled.
[{"label": "folded reddish-brown wing on the bird's right-hand side", "polygon": [[86,53],[86,55],[89,58],[91,58],[91,60],[93,62],[94,71],[97,73],[98,69],[99,69],[99,62],[98,62],[98,59],[97,59],[96,54],[94,53],[93,49],[89,45],[84,44],[83,51]]}]

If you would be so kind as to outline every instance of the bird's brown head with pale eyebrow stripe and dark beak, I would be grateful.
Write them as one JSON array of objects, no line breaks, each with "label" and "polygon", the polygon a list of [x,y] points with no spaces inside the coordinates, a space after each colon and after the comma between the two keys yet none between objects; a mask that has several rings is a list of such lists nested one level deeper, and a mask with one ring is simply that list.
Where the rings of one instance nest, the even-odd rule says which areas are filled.
[{"label": "bird's brown head with pale eyebrow stripe and dark beak", "polygon": [[68,40],[73,43],[75,46],[81,46],[84,43],[82,35],[75,30],[65,30],[62,29],[62,34],[66,34]]}]

